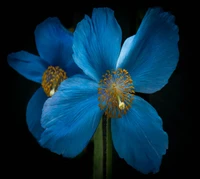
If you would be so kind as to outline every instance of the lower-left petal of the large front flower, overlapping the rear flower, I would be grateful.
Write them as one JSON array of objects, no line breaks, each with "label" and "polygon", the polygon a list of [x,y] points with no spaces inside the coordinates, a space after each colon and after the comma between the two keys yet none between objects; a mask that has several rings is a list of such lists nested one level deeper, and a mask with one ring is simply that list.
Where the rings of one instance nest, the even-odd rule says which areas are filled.
[{"label": "lower-left petal of the large front flower, overlapping the rear flower", "polygon": [[98,84],[72,77],[44,104],[41,146],[64,157],[75,157],[92,138],[102,111],[98,107]]}]

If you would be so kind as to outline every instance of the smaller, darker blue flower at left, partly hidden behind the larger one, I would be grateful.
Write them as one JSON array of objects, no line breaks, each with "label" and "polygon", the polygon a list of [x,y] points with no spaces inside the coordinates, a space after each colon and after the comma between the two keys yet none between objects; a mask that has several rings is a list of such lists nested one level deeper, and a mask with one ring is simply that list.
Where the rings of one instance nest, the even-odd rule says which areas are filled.
[{"label": "smaller, darker blue flower at left, partly hidden behind the larger one", "polygon": [[39,56],[19,51],[7,57],[8,64],[18,73],[42,84],[26,110],[28,128],[37,140],[44,130],[40,123],[44,102],[56,92],[63,80],[82,71],[72,60],[72,40],[73,34],[62,26],[58,18],[47,18],[35,29]]}]

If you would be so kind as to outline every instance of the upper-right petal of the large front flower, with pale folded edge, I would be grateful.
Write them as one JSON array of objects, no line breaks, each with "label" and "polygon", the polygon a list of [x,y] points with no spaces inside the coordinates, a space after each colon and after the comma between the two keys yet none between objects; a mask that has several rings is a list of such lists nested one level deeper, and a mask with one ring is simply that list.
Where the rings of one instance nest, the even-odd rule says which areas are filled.
[{"label": "upper-right petal of the large front flower, with pale folded edge", "polygon": [[179,59],[174,16],[160,8],[147,11],[135,36],[129,37],[117,62],[133,78],[135,91],[154,93],[165,86]]}]

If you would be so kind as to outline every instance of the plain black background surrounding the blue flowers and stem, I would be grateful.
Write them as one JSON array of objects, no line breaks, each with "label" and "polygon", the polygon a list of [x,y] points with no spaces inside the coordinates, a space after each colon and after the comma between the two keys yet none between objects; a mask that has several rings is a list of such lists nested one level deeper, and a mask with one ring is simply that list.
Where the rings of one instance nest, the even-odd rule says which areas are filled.
[{"label": "plain black background surrounding the blue flowers and stem", "polygon": [[[77,4],[77,5],[75,5]],[[190,12],[183,5],[173,3],[141,3],[133,5],[116,5],[101,1],[92,4],[80,5],[65,2],[52,3],[13,3],[5,5],[2,13],[2,55],[1,59],[1,90],[3,89],[2,102],[5,115],[1,120],[6,122],[1,126],[4,140],[1,148],[4,149],[2,158],[7,175],[30,178],[35,176],[56,178],[90,178],[92,175],[92,149],[90,144],[86,152],[76,159],[65,159],[46,149],[41,148],[29,133],[25,122],[26,105],[40,86],[25,79],[7,65],[6,56],[15,51],[26,50],[37,54],[34,41],[36,25],[48,17],[58,17],[66,28],[75,27],[83,15],[90,14],[93,7],[107,6],[115,10],[116,18],[123,31],[123,40],[133,35],[138,22],[137,11],[146,10],[148,7],[161,6],[166,11],[171,11],[176,17],[179,27],[180,59],[177,69],[171,76],[169,83],[153,95],[142,95],[158,111],[163,119],[164,129],[169,135],[169,149],[163,158],[160,172],[154,176],[186,176],[193,174],[191,170],[191,133],[192,123],[188,122],[187,63],[190,59],[189,31],[191,27]],[[3,6],[4,7],[4,6]],[[140,20],[140,19],[139,19]],[[5,91],[4,91],[5,90]],[[5,95],[4,95],[5,94]],[[2,108],[1,108],[2,110]],[[143,176],[114,153],[113,178],[134,178]],[[149,175],[147,175],[149,176]]]}]

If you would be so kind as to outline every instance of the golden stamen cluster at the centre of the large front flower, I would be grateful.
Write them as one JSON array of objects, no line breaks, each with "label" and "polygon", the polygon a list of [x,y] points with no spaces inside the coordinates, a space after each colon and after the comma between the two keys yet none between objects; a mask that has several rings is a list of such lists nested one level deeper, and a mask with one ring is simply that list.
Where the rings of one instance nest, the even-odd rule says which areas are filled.
[{"label": "golden stamen cluster at the centre of the large front flower", "polygon": [[121,118],[130,109],[134,97],[131,76],[125,69],[107,70],[99,82],[98,100],[109,118]]}]

